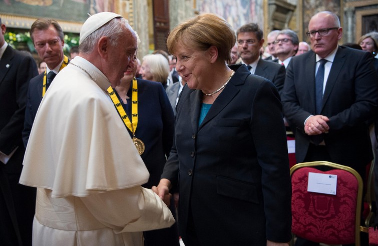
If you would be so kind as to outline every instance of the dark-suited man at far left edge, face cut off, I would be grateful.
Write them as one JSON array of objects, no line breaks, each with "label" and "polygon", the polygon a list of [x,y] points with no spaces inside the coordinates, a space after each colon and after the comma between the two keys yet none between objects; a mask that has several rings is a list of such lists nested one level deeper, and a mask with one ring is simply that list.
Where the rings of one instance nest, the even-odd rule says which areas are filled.
[{"label": "dark-suited man at far left edge, face cut off", "polygon": [[33,57],[5,42],[0,19],[0,245],[32,245],[35,188],[19,184],[26,96],[38,74]]}]

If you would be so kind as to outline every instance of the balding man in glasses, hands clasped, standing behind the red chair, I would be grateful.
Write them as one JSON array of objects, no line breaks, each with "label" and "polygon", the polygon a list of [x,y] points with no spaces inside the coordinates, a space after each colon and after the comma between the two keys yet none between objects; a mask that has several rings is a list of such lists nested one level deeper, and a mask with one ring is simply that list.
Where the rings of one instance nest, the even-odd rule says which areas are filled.
[{"label": "balding man in glasses, hands clasped, standing behind the red chair", "polygon": [[335,162],[363,178],[373,159],[365,122],[378,104],[373,58],[338,46],[342,28],[333,13],[314,15],[308,30],[312,50],[292,58],[282,93],[284,115],[295,129],[296,160]]}]

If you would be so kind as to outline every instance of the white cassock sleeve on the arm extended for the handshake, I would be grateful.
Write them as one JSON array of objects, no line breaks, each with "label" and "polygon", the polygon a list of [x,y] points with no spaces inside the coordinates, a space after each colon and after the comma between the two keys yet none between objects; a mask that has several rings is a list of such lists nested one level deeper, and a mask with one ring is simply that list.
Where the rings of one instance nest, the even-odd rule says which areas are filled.
[{"label": "white cassock sleeve on the arm extended for the handshake", "polygon": [[175,222],[160,197],[141,186],[80,198],[96,219],[115,233],[160,229]]}]

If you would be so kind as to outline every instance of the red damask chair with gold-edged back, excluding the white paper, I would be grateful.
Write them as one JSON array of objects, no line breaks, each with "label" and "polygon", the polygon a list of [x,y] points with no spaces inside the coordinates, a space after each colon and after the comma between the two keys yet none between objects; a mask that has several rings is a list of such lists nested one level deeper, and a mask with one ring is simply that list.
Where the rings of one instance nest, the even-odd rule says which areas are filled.
[{"label": "red damask chair with gold-edged back, excluding the white paper", "polygon": [[[315,166],[328,166],[320,171]],[[337,175],[336,195],[308,192],[308,173]],[[292,232],[311,241],[326,244],[360,245],[362,179],[350,167],[326,162],[306,162],[290,169],[292,183]]]}]

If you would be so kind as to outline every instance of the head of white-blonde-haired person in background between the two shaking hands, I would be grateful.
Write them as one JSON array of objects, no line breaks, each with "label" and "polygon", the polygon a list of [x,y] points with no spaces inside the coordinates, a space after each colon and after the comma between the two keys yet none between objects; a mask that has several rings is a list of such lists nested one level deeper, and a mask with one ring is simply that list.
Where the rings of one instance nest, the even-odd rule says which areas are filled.
[{"label": "head of white-blonde-haired person in background between the two shaking hands", "polygon": [[142,79],[160,82],[164,89],[167,88],[169,64],[163,55],[149,54],[144,56],[140,73]]}]

